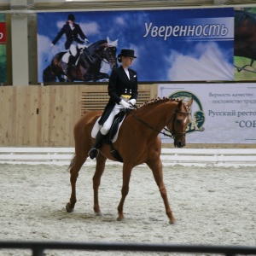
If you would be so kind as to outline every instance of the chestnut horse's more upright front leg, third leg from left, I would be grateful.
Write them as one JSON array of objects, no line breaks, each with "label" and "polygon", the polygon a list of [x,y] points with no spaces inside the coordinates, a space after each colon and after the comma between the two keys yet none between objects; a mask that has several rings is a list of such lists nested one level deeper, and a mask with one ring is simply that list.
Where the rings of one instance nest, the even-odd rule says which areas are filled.
[{"label": "chestnut horse's more upright front leg, third leg from left", "polygon": [[123,186],[122,186],[122,197],[119,202],[118,206],[118,212],[119,212],[119,217],[117,220],[123,220],[125,218],[124,216],[124,203],[125,203],[125,197],[128,195],[129,192],[129,183],[130,183],[130,178],[131,178],[131,170],[132,166],[129,166],[127,164],[123,165]]}]

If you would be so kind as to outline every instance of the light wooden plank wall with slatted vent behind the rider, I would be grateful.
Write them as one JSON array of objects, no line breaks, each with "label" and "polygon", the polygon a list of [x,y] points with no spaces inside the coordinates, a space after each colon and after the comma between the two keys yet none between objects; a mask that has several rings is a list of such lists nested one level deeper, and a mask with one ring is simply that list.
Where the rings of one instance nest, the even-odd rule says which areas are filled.
[{"label": "light wooden plank wall with slatted vent behind the rider", "polygon": [[[137,104],[155,96],[157,84],[141,84]],[[0,146],[73,147],[73,125],[108,98],[107,85],[0,87]]]}]

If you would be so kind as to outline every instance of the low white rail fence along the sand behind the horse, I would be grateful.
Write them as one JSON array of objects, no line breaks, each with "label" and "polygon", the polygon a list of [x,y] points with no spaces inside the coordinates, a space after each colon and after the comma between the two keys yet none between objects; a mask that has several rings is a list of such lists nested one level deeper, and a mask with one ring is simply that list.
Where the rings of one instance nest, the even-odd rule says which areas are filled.
[{"label": "low white rail fence along the sand behind the horse", "polygon": [[[0,163],[69,165],[74,148],[0,148]],[[256,148],[162,148],[164,166],[256,166]],[[95,165],[96,160],[86,160]],[[108,164],[119,164],[107,161]]]}]

